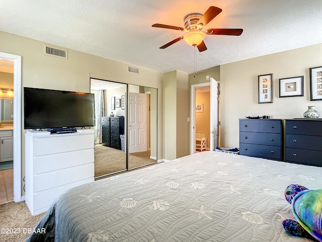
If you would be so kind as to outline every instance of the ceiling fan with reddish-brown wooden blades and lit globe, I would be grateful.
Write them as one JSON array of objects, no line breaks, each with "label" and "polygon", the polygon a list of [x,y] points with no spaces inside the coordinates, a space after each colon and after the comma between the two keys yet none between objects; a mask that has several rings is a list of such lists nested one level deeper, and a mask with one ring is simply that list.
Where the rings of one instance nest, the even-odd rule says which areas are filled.
[{"label": "ceiling fan with reddish-brown wooden blades and lit globe", "polygon": [[213,18],[220,14],[222,9],[211,6],[204,14],[190,13],[184,17],[185,27],[176,27],[165,24],[153,24],[152,27],[174,29],[187,32],[185,35],[176,38],[169,43],[160,47],[165,49],[170,45],[178,42],[179,40],[186,40],[186,42],[192,46],[197,46],[200,52],[207,49],[205,42],[203,41],[207,35],[240,35],[243,33],[243,29],[207,29],[201,31]]}]

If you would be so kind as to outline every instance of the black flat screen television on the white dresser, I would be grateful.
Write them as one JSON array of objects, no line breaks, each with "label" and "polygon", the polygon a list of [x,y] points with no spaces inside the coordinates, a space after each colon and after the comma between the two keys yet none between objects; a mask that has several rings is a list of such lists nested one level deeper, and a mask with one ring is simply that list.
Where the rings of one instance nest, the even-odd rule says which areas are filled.
[{"label": "black flat screen television on the white dresser", "polygon": [[94,94],[24,87],[25,129],[95,126]]}]

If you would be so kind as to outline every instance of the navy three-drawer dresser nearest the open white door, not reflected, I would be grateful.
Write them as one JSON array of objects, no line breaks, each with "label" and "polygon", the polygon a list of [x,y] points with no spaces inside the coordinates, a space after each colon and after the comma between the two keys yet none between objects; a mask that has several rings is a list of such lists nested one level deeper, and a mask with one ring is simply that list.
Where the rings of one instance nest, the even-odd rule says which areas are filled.
[{"label": "navy three-drawer dresser nearest the open white door, not reflected", "polygon": [[239,119],[239,154],[283,160],[282,119]]}]

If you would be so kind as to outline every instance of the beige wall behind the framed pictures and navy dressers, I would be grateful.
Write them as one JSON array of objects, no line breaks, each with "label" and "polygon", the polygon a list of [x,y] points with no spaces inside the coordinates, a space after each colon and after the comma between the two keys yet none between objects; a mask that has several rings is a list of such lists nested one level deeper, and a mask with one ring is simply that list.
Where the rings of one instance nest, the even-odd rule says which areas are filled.
[{"label": "beige wall behind the framed pictures and navy dressers", "polygon": [[[322,66],[322,44],[265,55],[220,67],[221,146],[239,147],[238,118],[270,115],[298,118],[308,105],[322,113],[322,101],[310,101],[309,68]],[[273,73],[273,103],[258,103],[258,75]],[[279,97],[279,79],[304,76],[303,97]]]}]

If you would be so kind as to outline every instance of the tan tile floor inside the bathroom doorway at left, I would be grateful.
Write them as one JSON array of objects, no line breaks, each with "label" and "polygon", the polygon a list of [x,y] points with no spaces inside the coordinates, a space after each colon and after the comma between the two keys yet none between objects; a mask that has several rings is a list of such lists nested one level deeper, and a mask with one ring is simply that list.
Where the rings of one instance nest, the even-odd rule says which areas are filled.
[{"label": "tan tile floor inside the bathroom doorway at left", "polygon": [[14,169],[0,170],[0,204],[14,201]]}]

